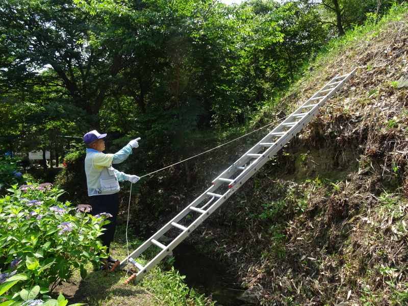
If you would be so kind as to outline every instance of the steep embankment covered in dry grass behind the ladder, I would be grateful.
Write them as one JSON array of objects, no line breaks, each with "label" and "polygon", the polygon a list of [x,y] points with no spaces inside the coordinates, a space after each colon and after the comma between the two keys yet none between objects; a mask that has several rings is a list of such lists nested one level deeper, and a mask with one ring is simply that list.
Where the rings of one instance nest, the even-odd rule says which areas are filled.
[{"label": "steep embankment covered in dry grass behind the ladder", "polygon": [[281,101],[285,112],[359,70],[189,238],[231,263],[262,304],[408,303],[408,96],[399,87],[408,17],[399,16],[310,67]]}]

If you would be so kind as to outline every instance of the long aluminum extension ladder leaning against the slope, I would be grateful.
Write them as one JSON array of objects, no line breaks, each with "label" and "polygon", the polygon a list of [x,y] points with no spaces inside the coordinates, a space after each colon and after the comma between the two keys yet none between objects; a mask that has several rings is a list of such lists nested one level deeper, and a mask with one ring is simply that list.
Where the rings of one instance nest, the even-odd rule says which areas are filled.
[{"label": "long aluminum extension ladder leaning against the slope", "polygon": [[[224,201],[233,195],[243,183],[256,173],[277,151],[288,143],[319,112],[319,108],[336,93],[356,72],[336,75],[302,106],[275,127],[260,142],[249,149],[240,159],[222,172],[203,194],[191,202],[182,212],[171,219],[156,234],[140,245],[129,257],[120,262],[120,269],[132,263],[138,269],[125,284],[140,281],[153,267],[163,260],[192,231],[206,220]],[[159,242],[166,234],[171,241]],[[170,240],[167,239],[168,241]],[[143,256],[141,256],[143,254]],[[152,259],[146,259],[149,256]],[[139,261],[136,261],[138,259]],[[147,262],[142,264],[141,262]]]}]

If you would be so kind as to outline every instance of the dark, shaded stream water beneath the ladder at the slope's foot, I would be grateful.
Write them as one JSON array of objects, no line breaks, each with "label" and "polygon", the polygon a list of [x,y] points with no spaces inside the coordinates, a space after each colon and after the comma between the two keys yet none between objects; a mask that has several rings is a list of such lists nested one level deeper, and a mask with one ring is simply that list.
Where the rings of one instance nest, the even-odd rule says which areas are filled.
[{"label": "dark, shaded stream water beneath the ladder at the slope's foot", "polygon": [[212,296],[218,306],[250,305],[238,297],[244,292],[236,277],[228,274],[226,266],[203,256],[193,246],[180,244],[173,249],[174,268],[179,270],[187,286],[197,292]]}]

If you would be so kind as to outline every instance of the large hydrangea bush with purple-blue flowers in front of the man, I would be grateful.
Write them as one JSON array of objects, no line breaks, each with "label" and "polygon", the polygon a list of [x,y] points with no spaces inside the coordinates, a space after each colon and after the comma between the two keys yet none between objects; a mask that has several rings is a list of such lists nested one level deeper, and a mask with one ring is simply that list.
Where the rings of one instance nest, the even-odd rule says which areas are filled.
[{"label": "large hydrangea bush with purple-blue flowers in front of the man", "polygon": [[105,217],[63,204],[58,200],[63,190],[48,183],[10,191],[12,195],[0,199],[0,269],[27,276],[10,290],[22,290],[21,297],[33,299],[67,281],[74,271],[86,277],[85,265],[96,266],[103,249],[97,237],[108,222]]}]

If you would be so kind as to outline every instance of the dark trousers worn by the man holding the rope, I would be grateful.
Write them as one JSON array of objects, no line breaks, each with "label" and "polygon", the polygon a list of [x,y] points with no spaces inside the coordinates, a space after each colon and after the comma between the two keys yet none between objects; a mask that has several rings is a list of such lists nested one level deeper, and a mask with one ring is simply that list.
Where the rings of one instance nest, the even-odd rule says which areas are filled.
[{"label": "dark trousers worn by the man holding the rope", "polygon": [[109,224],[105,224],[103,234],[99,236],[104,246],[110,247],[116,230],[116,219],[119,211],[118,193],[103,194],[90,196],[92,215],[96,216],[101,213],[109,213],[112,217],[108,218]]}]

